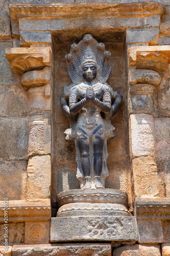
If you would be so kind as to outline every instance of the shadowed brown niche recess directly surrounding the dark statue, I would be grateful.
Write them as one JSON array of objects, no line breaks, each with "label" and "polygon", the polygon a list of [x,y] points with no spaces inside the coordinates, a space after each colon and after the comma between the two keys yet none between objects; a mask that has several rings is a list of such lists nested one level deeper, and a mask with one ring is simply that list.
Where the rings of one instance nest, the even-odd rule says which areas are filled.
[{"label": "shadowed brown niche recess directly surrounding the dark statue", "polygon": [[[72,83],[67,72],[65,55],[69,53],[72,43],[78,43],[86,33],[105,44],[106,51],[111,52],[111,73],[107,83],[114,91],[123,95],[123,103],[117,114],[111,119],[115,127],[115,137],[108,141],[109,158],[107,160],[109,178],[106,188],[122,189],[131,193],[129,167],[129,140],[127,118],[127,88],[125,69],[124,32],[112,30],[56,31],[53,34],[54,52],[54,88],[53,88],[53,130],[54,152],[52,170],[53,202],[63,190],[80,188],[76,179],[77,163],[75,145],[65,141],[64,132],[69,128],[69,120],[64,115],[59,98],[64,86]],[[104,116],[103,116],[104,117]],[[129,188],[129,189],[128,189]],[[130,196],[131,198],[131,196]]]}]

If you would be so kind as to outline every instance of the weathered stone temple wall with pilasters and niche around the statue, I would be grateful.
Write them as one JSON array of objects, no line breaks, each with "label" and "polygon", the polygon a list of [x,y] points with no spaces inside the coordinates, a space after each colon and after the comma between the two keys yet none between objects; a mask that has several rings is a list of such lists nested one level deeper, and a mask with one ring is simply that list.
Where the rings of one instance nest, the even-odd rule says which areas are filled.
[{"label": "weathered stone temple wall with pilasters and niche around the statue", "polygon": [[[0,17],[0,254],[170,255],[169,0],[2,0]],[[111,52],[107,82],[123,95],[106,188],[128,193],[138,241],[49,244],[57,195],[79,188],[60,96],[64,56],[85,33]]]}]

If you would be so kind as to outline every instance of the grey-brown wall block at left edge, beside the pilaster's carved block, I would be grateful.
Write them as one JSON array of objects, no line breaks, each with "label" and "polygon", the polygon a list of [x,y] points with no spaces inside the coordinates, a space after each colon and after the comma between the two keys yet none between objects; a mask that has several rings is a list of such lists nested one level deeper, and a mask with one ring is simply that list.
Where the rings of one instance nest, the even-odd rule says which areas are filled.
[{"label": "grey-brown wall block at left edge, beside the pilaster's carved block", "polygon": [[1,160],[27,160],[27,119],[0,118]]}]

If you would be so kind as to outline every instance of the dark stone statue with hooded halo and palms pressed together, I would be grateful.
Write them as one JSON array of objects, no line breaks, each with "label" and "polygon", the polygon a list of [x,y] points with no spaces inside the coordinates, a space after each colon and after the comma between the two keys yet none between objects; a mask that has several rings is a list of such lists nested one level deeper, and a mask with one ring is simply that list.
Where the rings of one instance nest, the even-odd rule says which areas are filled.
[{"label": "dark stone statue with hooded halo and palms pressed together", "polygon": [[71,119],[64,134],[75,141],[77,178],[83,189],[104,188],[108,177],[107,139],[114,137],[110,118],[123,98],[106,83],[110,55],[103,43],[86,34],[65,56],[72,84],[64,87],[61,97],[62,109]]}]

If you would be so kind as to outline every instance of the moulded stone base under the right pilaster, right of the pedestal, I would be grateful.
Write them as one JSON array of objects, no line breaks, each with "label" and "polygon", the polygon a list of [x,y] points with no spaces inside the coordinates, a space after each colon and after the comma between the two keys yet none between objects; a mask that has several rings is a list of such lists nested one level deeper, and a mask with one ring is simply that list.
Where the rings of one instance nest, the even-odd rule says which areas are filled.
[{"label": "moulded stone base under the right pilaster, right of the pedestal", "polygon": [[170,242],[170,199],[137,198],[135,215],[137,218],[139,243]]}]

